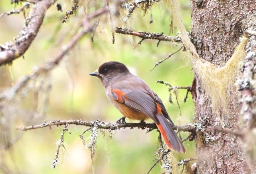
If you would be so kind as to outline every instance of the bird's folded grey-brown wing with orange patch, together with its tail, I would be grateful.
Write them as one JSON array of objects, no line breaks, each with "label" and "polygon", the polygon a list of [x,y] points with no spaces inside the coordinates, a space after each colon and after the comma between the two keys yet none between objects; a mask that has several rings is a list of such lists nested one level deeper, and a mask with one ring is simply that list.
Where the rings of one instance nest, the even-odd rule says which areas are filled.
[{"label": "bird's folded grey-brown wing with orange patch, together with its tail", "polygon": [[167,121],[170,117],[164,108],[162,100],[152,90],[146,90],[145,88],[120,90],[114,88],[111,90],[111,97],[117,102],[153,119],[169,149],[182,151],[183,153],[186,151]]}]

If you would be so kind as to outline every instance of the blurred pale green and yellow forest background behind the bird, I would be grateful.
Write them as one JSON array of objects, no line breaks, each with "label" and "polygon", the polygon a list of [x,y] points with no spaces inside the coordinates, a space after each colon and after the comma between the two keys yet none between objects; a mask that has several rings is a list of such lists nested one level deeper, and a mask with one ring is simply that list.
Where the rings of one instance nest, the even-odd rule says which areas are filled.
[{"label": "blurred pale green and yellow forest background behind the bird", "polygon": [[[76,14],[70,16],[67,23],[61,23],[65,12],[69,11],[72,2],[58,0],[63,12],[57,11],[56,4],[47,11],[41,29],[23,58],[18,58],[11,65],[0,67],[0,92],[12,86],[23,76],[30,74],[45,61],[55,57],[61,45],[74,35],[85,12],[93,11],[102,6],[102,1],[80,1]],[[189,0],[180,0],[182,17],[185,26],[190,31],[191,16]],[[0,14],[22,5],[10,4],[9,0],[0,1]],[[113,19],[113,25],[127,27],[134,31],[164,32],[164,35],[176,35],[176,29],[170,33],[170,11],[166,2],[155,3],[144,15],[143,10],[136,9],[127,22],[123,21],[127,11],[123,10]],[[25,10],[28,16],[29,9]],[[153,23],[150,24],[152,14]],[[23,13],[12,14],[0,18],[0,44],[13,41],[23,28]],[[13,100],[1,104],[0,111],[0,173],[26,174],[81,174],[92,173],[95,166],[96,174],[143,174],[154,164],[154,156],[158,149],[158,132],[147,133],[141,129],[120,129],[99,133],[95,162],[91,161],[90,150],[86,149],[79,135],[86,130],[82,126],[68,126],[64,135],[64,146],[59,154],[59,165],[51,169],[51,163],[57,149],[57,141],[63,128],[49,127],[19,132],[17,127],[36,125],[54,119],[82,119],[84,121],[102,121],[115,123],[122,117],[121,113],[109,102],[99,81],[89,76],[106,61],[120,61],[129,70],[145,80],[163,100],[166,109],[177,125],[193,122],[194,104],[189,94],[188,100],[182,100],[186,90],[178,91],[181,115],[173,95],[174,104],[169,102],[168,88],[157,84],[164,80],[172,86],[189,86],[193,80],[190,63],[182,51],[161,63],[153,71],[154,63],[164,59],[169,53],[180,48],[175,43],[141,40],[138,37],[115,34],[115,44],[112,44],[111,23],[109,16],[100,18],[94,35],[86,35],[70,51],[57,68],[45,76],[40,76],[24,88]],[[134,48],[135,47],[135,48]],[[130,122],[128,119],[127,122]],[[152,122],[148,120],[147,122]],[[5,132],[4,132],[5,131]],[[111,137],[110,137],[111,135]],[[188,134],[181,133],[182,137]],[[90,133],[84,135],[89,141]],[[6,144],[6,142],[8,142]],[[184,142],[186,154],[171,153],[176,170],[182,169],[176,165],[183,158],[195,156],[194,142]],[[160,165],[152,170],[152,174],[160,173]]]}]

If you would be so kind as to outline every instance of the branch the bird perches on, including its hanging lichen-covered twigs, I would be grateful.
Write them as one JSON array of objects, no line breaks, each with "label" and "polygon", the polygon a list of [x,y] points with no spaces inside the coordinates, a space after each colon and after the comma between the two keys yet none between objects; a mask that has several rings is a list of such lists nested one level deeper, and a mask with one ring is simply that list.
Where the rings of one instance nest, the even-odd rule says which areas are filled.
[{"label": "branch the bird perches on, including its hanging lichen-covered twigs", "polygon": [[[66,120],[66,121],[61,121],[61,120],[54,120],[54,121],[49,121],[49,122],[45,121],[44,123],[39,124],[39,125],[20,127],[20,128],[17,128],[17,130],[28,131],[28,130],[31,130],[31,129],[39,129],[39,128],[43,128],[43,127],[49,127],[51,129],[52,126],[57,126],[58,127],[58,126],[61,126],[61,125],[65,125],[65,127],[61,131],[61,137],[60,137],[59,141],[57,142],[57,151],[55,153],[55,158],[54,158],[53,163],[52,163],[52,168],[55,168],[55,166],[57,166],[57,164],[58,164],[59,149],[60,149],[61,146],[63,146],[63,135],[64,135],[65,131],[68,130],[67,129],[68,125],[82,125],[82,126],[90,127],[89,129],[86,129],[79,137],[82,139],[82,143],[87,148],[89,148],[91,150],[92,160],[94,158],[95,149],[96,149],[96,139],[98,137],[97,129],[108,129],[109,131],[117,130],[117,129],[120,129],[120,128],[133,129],[135,127],[141,128],[141,129],[149,128],[151,130],[158,129],[156,127],[155,123],[143,123],[143,122],[140,122],[140,123],[106,123],[104,121],[101,121],[100,119],[98,119],[96,121],[90,121],[90,122],[82,121],[82,120],[79,119],[79,120]],[[192,124],[188,124],[188,125],[184,125],[184,126],[175,126],[175,125],[172,125],[172,126],[175,130],[178,130],[178,131],[195,132],[195,127]],[[86,145],[83,134],[87,131],[91,131],[92,134],[90,135],[90,143],[88,143]],[[162,166],[162,168],[167,168],[166,170],[168,170],[168,171],[171,170],[171,168],[172,168],[172,166],[170,166],[170,162],[168,161],[168,159],[166,157],[167,154],[170,152],[170,149],[168,149],[167,151],[164,150],[164,143],[162,142],[160,133],[159,133],[158,140],[160,141],[160,145],[161,145],[161,147],[159,148],[159,151],[160,151],[161,155],[160,155],[160,158],[158,158],[158,160],[153,164],[153,166],[147,172],[147,174],[149,174],[150,171],[161,160],[164,160],[164,163],[165,163]]]}]

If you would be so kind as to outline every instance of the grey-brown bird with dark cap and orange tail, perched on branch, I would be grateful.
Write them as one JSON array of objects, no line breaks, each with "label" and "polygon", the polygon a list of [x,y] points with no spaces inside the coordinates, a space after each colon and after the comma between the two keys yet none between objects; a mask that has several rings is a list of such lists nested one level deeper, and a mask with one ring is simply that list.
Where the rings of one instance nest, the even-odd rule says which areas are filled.
[{"label": "grey-brown bird with dark cap and orange tail, perched on branch", "polygon": [[105,62],[90,75],[100,80],[106,96],[123,115],[117,123],[126,123],[126,117],[141,122],[150,118],[156,123],[168,149],[185,153],[162,100],[141,78],[131,74],[123,63]]}]

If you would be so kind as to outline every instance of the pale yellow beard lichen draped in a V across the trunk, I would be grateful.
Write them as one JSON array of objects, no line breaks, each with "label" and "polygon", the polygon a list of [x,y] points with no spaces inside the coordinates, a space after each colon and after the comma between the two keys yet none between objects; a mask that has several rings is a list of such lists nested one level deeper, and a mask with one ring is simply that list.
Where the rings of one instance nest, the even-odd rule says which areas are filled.
[{"label": "pale yellow beard lichen draped in a V across the trunk", "polygon": [[186,29],[180,15],[180,6],[177,0],[167,0],[172,10],[173,19],[178,30],[182,43],[186,48],[187,57],[193,63],[193,70],[200,78],[203,89],[211,98],[212,111],[220,117],[221,113],[228,115],[228,98],[235,92],[235,81],[238,76],[239,69],[245,57],[246,37],[240,38],[240,44],[236,47],[232,57],[227,61],[225,66],[217,67],[212,63],[201,59],[197,54],[195,46],[188,38]]}]

